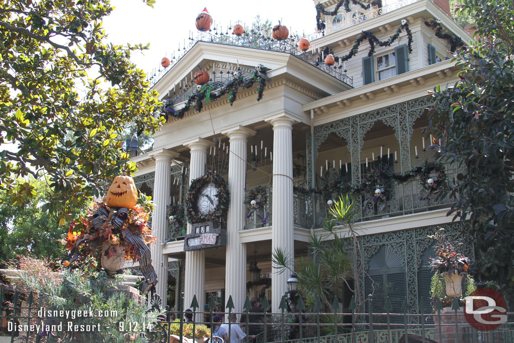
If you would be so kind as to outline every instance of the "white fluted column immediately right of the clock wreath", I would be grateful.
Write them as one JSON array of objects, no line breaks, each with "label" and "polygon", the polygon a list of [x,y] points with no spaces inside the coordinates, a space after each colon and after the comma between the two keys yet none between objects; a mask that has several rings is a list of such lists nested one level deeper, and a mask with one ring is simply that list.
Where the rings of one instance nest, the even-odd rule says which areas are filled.
[{"label": "white fluted column immediately right of the clock wreath", "polygon": [[242,312],[246,299],[246,245],[239,230],[245,225],[246,143],[255,131],[236,125],[223,130],[230,138],[228,188],[230,207],[227,219],[227,252],[225,259],[225,302],[231,295],[234,312]]}]

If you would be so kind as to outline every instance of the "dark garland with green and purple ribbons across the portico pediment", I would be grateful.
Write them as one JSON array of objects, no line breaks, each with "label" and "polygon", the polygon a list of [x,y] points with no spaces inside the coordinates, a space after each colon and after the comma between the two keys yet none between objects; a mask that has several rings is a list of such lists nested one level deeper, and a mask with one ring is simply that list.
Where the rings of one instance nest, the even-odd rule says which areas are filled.
[{"label": "dark garland with green and purple ribbons across the portico pediment", "polygon": [[253,71],[251,77],[245,77],[240,71],[238,71],[229,83],[216,90],[214,90],[214,86],[212,84],[207,83],[203,85],[199,91],[191,94],[186,101],[186,104],[178,111],[173,110],[173,101],[171,99],[166,99],[161,106],[160,116],[164,117],[166,122],[168,122],[170,115],[172,117],[182,119],[186,112],[191,109],[191,106],[194,106],[196,112],[201,112],[204,107],[204,99],[205,102],[208,103],[211,100],[221,98],[225,94],[228,94],[228,102],[230,103],[230,106],[232,106],[236,100],[238,89],[240,87],[245,89],[251,88],[255,83],[257,83],[257,101],[261,101],[264,88],[266,87],[266,81],[270,81],[266,76],[266,72],[268,70],[270,69],[261,66],[260,69],[255,69]]}]

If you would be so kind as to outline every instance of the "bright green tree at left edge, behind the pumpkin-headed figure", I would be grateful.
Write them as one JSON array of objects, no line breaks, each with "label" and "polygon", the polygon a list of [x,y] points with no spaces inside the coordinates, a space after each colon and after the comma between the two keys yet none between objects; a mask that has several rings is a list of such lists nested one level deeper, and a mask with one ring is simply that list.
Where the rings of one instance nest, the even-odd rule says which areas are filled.
[{"label": "bright green tree at left edge, behind the pumpkin-headed figure", "polygon": [[41,209],[50,192],[47,179],[31,178],[26,187],[33,193],[27,201],[21,201],[23,194],[0,190],[0,261],[23,254],[57,259],[62,253],[63,246],[58,240],[63,231],[57,225],[58,217]]}]

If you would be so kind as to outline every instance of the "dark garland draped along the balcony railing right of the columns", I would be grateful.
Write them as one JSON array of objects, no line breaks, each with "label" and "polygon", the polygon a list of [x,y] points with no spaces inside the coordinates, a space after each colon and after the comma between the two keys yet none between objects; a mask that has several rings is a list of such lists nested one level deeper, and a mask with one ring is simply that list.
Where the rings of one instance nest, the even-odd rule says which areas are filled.
[{"label": "dark garland draped along the balcony railing right of the columns", "polygon": [[336,179],[325,184],[322,188],[302,188],[293,187],[293,191],[301,194],[323,194],[325,200],[332,198],[332,194],[338,193],[351,193],[354,195],[368,195],[374,193],[378,185],[383,185],[389,182],[403,183],[408,182],[412,178],[419,175],[420,184],[425,189],[428,189],[427,179],[430,174],[436,172],[438,183],[442,183],[446,180],[446,173],[443,166],[438,162],[424,161],[421,166],[414,167],[405,173],[386,173],[381,170],[372,170],[370,175],[366,177],[360,184],[348,183],[345,179]]}]

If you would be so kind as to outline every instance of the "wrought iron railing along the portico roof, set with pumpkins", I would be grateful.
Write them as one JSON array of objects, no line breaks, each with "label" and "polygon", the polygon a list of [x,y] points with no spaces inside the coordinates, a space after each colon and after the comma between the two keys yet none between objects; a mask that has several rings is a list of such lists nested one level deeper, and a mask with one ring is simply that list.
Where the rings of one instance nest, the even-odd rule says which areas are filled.
[{"label": "wrought iron railing along the portico roof, set with pumpkins", "polygon": [[[215,43],[215,44],[223,44],[223,45],[233,45],[233,46],[243,46],[248,48],[254,48],[254,49],[261,49],[261,50],[270,50],[270,51],[279,51],[279,52],[286,52],[291,53],[292,55],[297,56],[298,58],[302,59],[303,61],[316,66],[317,68],[323,70],[328,75],[331,75],[335,77],[336,79],[353,86],[353,77],[350,77],[346,74],[346,71],[341,68],[341,66],[334,66],[329,67],[322,63],[322,60],[320,56],[313,55],[308,52],[302,52],[298,49],[298,41],[300,38],[298,35],[292,35],[287,39],[283,41],[277,41],[269,37],[267,34],[263,34],[260,31],[254,31],[250,30],[250,32],[245,32],[241,36],[236,36],[231,33],[218,33],[218,32],[200,32],[196,38],[189,38],[188,44],[184,46],[182,49],[178,49],[178,57],[171,56],[170,58],[170,67],[168,68],[159,68],[158,70],[154,70],[150,75],[150,86],[154,86],[166,73],[168,72],[171,67],[180,59],[186,55],[186,53],[197,43],[197,42],[208,42],[208,43]],[[185,41],[186,43],[186,41]],[[230,77],[233,78],[234,73],[236,73],[236,70],[232,70],[229,75],[228,79],[230,80]],[[216,82],[216,79],[212,80],[213,82]],[[221,80],[220,80],[221,81]],[[193,92],[196,92],[196,88],[193,87],[193,80],[190,80],[188,83],[182,83],[179,84],[177,88],[174,89],[175,96],[178,96],[180,94],[180,99],[182,101],[185,101],[187,99],[187,96],[192,94]],[[220,87],[223,84],[219,85]],[[213,88],[214,90],[215,88]],[[174,96],[174,98],[175,98]],[[178,103],[178,101],[174,101],[174,103]]]}]

